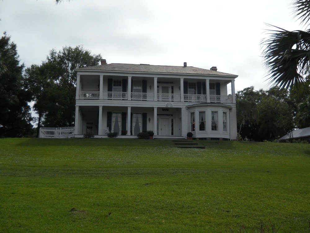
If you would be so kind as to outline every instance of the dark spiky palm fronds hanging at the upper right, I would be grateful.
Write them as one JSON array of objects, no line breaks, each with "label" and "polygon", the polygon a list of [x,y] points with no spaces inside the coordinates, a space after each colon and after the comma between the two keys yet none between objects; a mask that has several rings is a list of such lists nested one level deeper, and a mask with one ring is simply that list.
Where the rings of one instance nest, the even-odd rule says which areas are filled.
[{"label": "dark spiky palm fronds hanging at the upper right", "polygon": [[[302,24],[307,24],[310,20],[310,0],[295,0],[292,4],[295,17]],[[273,30],[268,30],[269,37],[261,43],[264,63],[270,75],[269,84],[284,89],[304,84],[310,71],[310,29],[287,31],[272,27]]]}]

